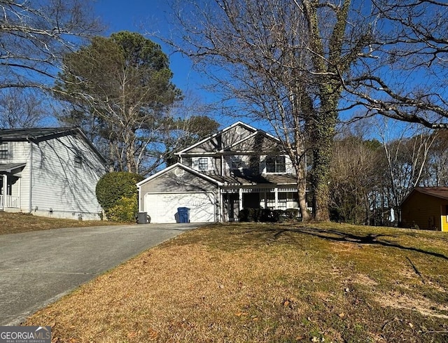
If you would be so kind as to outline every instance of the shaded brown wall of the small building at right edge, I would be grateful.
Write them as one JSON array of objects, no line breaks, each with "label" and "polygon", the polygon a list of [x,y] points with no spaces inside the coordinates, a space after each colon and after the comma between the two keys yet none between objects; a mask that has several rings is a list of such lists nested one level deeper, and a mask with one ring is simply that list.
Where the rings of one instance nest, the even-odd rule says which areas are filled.
[{"label": "shaded brown wall of the small building at right edge", "polygon": [[431,230],[435,228],[441,230],[441,221],[443,219],[446,221],[446,216],[442,216],[442,209],[447,205],[446,200],[414,192],[402,204],[402,226],[405,228],[418,226],[420,229]]}]

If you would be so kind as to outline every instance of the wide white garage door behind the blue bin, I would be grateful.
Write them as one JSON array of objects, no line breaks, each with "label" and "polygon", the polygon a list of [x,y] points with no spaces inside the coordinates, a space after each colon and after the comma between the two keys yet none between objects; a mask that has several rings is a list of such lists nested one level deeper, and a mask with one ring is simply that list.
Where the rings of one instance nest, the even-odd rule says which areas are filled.
[{"label": "wide white garage door behind the blue bin", "polygon": [[214,193],[147,193],[145,209],[151,223],[177,223],[178,207],[190,209],[190,223],[215,221]]}]

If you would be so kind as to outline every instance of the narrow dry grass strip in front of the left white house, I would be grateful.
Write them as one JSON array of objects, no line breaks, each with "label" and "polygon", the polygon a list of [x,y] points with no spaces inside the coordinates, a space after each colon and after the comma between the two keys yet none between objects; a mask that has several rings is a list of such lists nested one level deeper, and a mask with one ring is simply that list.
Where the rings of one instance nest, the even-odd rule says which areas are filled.
[{"label": "narrow dry grass strip in front of the left white house", "polygon": [[108,221],[76,221],[33,216],[32,214],[0,212],[0,235],[60,228],[118,225]]}]

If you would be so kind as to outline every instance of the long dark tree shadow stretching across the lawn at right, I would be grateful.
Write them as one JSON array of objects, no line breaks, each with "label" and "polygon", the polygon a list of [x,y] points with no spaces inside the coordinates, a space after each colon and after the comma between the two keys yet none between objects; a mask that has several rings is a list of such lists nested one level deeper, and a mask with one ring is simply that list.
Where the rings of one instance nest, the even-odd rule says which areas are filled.
[{"label": "long dark tree shadow stretching across the lawn at right", "polygon": [[[252,230],[247,230],[246,232],[251,232]],[[387,246],[390,248],[399,248],[405,251],[415,251],[417,253],[424,253],[426,255],[432,255],[437,258],[442,258],[444,260],[448,260],[448,256],[442,253],[435,253],[433,251],[426,251],[421,248],[414,248],[412,246],[402,246],[397,243],[393,243],[390,241],[384,240],[386,237],[398,237],[396,235],[381,235],[381,234],[367,234],[367,235],[356,235],[353,233],[342,232],[338,230],[326,230],[319,228],[265,228],[262,231],[272,233],[272,239],[277,240],[280,239],[283,235],[289,233],[302,233],[304,235],[311,235],[314,237],[328,239],[330,241],[340,241],[347,243],[356,243],[356,244],[377,244],[380,246]],[[381,239],[383,238],[383,239]]]}]

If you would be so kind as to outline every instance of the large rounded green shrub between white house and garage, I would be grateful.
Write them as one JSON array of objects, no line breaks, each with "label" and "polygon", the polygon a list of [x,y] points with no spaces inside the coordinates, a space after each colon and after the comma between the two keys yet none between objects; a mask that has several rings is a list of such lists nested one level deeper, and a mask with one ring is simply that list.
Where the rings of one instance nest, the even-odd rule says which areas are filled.
[{"label": "large rounded green shrub between white house and garage", "polygon": [[143,176],[128,172],[111,172],[97,183],[96,194],[109,221],[135,221],[137,186]]}]

